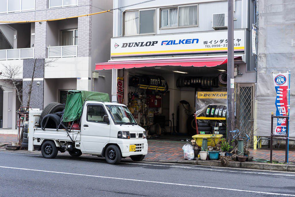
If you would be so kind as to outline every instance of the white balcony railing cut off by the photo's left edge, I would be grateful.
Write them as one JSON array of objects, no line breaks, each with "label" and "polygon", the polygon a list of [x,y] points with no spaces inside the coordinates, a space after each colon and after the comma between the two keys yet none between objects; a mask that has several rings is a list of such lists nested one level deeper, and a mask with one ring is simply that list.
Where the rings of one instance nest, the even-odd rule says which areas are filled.
[{"label": "white balcony railing cut off by the photo's left edge", "polygon": [[35,48],[16,48],[0,50],[0,60],[33,59]]}]

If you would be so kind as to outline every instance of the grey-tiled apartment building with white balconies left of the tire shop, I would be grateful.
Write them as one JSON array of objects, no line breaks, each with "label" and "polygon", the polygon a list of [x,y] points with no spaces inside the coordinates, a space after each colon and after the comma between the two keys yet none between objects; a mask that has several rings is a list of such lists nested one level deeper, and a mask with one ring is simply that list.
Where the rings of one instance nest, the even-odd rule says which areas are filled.
[{"label": "grey-tiled apartment building with white balconies left of the tire shop", "polygon": [[[4,0],[0,2],[0,69],[19,67],[16,78],[22,79],[23,106],[27,103],[26,87],[32,78],[32,60],[40,67],[35,71],[30,107],[43,109],[50,102],[65,103],[70,89],[111,94],[111,71],[93,71],[95,63],[108,61],[113,14],[61,19],[112,9],[108,0]],[[20,106],[15,89],[1,75],[0,115],[3,128],[14,128]],[[3,84],[6,84],[5,87]],[[3,96],[2,96],[3,95]],[[3,103],[2,103],[3,102]],[[1,109],[3,106],[3,109]]]}]

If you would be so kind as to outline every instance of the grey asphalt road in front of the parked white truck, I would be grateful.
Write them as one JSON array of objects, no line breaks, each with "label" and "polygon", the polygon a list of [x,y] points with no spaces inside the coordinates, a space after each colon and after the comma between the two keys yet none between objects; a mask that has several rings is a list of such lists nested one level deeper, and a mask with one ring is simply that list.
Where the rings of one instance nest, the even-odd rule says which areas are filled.
[{"label": "grey asphalt road in front of the parked white truck", "polygon": [[295,196],[295,174],[0,152],[0,196]]}]

